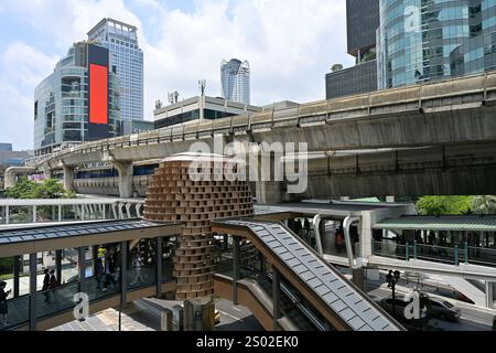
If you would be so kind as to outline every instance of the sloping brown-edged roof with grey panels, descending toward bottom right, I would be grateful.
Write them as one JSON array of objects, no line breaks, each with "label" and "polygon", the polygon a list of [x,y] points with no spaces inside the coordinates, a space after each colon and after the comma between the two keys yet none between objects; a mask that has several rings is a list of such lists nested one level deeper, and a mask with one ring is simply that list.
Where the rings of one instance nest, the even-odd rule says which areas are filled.
[{"label": "sloping brown-edged roof with grey panels, descending toward bottom right", "polygon": [[295,291],[336,330],[405,330],[281,223],[224,220],[213,222],[212,229],[250,240]]}]

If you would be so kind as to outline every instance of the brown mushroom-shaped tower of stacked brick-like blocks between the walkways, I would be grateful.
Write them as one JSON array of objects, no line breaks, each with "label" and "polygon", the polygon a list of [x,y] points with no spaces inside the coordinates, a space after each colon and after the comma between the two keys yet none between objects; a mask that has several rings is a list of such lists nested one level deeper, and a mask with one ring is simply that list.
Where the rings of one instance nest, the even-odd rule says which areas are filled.
[{"label": "brown mushroom-shaped tower of stacked brick-like blocks between the walkways", "polygon": [[180,153],[162,160],[153,174],[143,218],[183,223],[174,257],[179,300],[214,293],[211,221],[254,214],[248,182],[234,178],[237,168],[246,167],[217,154]]}]

